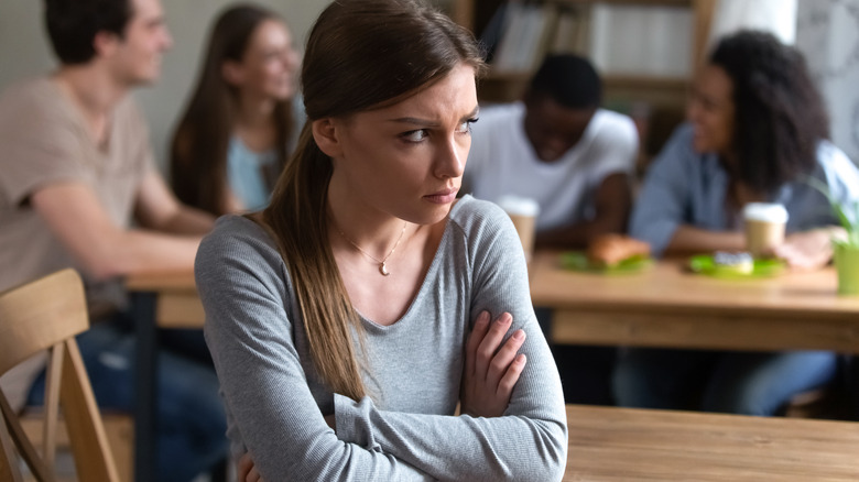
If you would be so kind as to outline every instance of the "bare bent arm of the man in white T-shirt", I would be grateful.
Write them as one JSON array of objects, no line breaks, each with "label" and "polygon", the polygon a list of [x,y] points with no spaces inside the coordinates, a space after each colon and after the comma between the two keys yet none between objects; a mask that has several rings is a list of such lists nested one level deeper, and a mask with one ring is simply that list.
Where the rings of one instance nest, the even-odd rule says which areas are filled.
[{"label": "bare bent arm of the man in white T-shirt", "polygon": [[564,226],[536,234],[537,248],[586,248],[590,241],[605,233],[624,232],[632,209],[632,189],[626,173],[606,176],[595,196],[594,219]]}]

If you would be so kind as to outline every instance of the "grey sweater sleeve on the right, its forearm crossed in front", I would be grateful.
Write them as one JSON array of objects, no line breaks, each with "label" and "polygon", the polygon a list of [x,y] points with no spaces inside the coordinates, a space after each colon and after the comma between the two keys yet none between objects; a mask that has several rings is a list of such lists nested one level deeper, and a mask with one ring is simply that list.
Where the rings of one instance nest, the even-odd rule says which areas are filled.
[{"label": "grey sweater sleeve on the right, its forearm crossed in front", "polygon": [[528,336],[521,349],[528,363],[504,415],[392,413],[378,409],[369,399],[356,403],[336,396],[337,435],[379,446],[439,480],[561,480],[567,424],[557,368],[534,316],[525,259],[513,224],[496,206],[486,216],[469,240],[471,324],[483,309],[493,317],[508,311],[513,316],[510,332],[522,328]]}]

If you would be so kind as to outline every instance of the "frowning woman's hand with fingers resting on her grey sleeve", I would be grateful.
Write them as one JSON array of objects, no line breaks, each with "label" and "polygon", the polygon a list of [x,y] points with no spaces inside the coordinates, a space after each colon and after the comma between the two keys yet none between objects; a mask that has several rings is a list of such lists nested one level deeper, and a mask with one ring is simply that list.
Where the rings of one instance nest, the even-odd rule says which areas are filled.
[{"label": "frowning woman's hand with fingers resting on her grey sleeve", "polygon": [[513,386],[525,366],[525,355],[517,351],[525,332],[517,330],[503,344],[513,317],[504,313],[491,324],[482,311],[466,343],[465,373],[460,388],[460,410],[475,417],[499,417],[510,404]]}]

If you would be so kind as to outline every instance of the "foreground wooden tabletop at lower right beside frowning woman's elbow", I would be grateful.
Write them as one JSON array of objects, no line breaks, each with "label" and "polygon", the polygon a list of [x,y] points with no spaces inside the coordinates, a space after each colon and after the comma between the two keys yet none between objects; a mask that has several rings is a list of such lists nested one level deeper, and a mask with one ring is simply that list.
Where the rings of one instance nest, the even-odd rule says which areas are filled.
[{"label": "foreground wooden tabletop at lower right beside frowning woman's elbow", "polygon": [[567,405],[573,481],[856,481],[859,425]]}]

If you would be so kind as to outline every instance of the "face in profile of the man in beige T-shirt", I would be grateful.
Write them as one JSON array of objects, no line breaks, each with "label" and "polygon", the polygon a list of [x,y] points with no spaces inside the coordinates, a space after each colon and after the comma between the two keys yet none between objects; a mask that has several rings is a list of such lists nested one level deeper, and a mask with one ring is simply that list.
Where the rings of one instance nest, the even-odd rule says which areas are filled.
[{"label": "face in profile of the man in beige T-shirt", "polygon": [[108,33],[99,35],[111,37],[106,52],[117,78],[127,85],[150,84],[161,75],[161,59],[173,39],[157,0],[133,0],[131,10],[123,37]]}]

